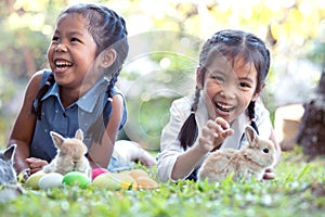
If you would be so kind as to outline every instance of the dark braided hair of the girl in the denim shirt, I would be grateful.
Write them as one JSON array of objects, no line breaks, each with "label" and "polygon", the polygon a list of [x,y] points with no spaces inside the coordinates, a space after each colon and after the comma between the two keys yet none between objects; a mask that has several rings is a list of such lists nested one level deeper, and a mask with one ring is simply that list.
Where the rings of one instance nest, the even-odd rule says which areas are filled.
[{"label": "dark braided hair of the girl in the denim shirt", "polygon": [[[112,103],[113,89],[122,68],[122,64],[129,52],[128,31],[125,20],[115,11],[100,4],[76,4],[67,8],[58,15],[58,18],[64,14],[80,14],[87,23],[86,26],[92,35],[96,43],[96,56],[106,49],[114,49],[117,53],[113,65],[105,71],[105,75],[110,77],[107,86],[107,102],[103,107],[102,116],[89,128],[88,135],[92,135],[93,141],[99,142],[104,133],[105,126],[108,124],[107,111]],[[38,119],[41,119],[41,98],[47,93],[49,88],[54,84],[54,76],[51,74],[43,87],[40,88],[35,101],[37,106],[32,107],[32,112],[37,114]]]}]

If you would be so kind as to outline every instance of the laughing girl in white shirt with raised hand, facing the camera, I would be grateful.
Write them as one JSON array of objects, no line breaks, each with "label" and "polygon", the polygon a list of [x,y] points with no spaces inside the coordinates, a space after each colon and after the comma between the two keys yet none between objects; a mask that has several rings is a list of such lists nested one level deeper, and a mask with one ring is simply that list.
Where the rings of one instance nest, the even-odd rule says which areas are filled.
[{"label": "laughing girl in white shirt with raised hand, facing the camera", "polygon": [[[170,122],[162,130],[157,156],[161,181],[196,180],[196,171],[209,152],[240,149],[246,125],[273,141],[278,163],[281,149],[269,112],[259,100],[269,68],[270,52],[252,34],[221,30],[205,42],[195,94],[172,103]],[[274,177],[269,168],[263,178]]]}]

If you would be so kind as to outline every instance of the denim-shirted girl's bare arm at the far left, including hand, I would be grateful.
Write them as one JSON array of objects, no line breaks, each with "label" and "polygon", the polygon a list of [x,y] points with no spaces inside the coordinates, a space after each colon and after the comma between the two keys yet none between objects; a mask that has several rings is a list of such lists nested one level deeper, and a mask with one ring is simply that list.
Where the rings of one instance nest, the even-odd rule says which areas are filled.
[{"label": "denim-shirted girl's bare arm at the far left, including hand", "polygon": [[41,82],[41,73],[35,74],[25,92],[22,108],[14,123],[9,144],[16,143],[17,149],[15,152],[15,164],[14,167],[16,173],[20,174],[22,170],[29,168],[29,164],[26,158],[29,157],[29,145],[34,135],[34,128],[36,124],[36,115],[31,113],[32,101],[39,90]]}]

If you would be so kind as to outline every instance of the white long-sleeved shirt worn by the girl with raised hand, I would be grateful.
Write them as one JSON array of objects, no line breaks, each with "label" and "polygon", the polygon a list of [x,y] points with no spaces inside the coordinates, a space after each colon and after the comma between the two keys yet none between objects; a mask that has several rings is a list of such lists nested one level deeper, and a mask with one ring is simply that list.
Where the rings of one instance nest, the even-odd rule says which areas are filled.
[{"label": "white long-sleeved shirt worn by the girl with raised hand", "polygon": [[[191,114],[191,107],[193,104],[194,97],[184,97],[173,101],[170,107],[170,120],[165,126],[161,132],[160,138],[160,152],[157,156],[157,176],[160,181],[172,180],[171,171],[176,164],[178,156],[184,153],[183,148],[178,140],[179,131],[182,128],[184,122]],[[264,107],[262,102],[257,101],[255,105],[256,112],[256,124],[259,129],[260,137],[263,139],[269,139],[272,131],[272,124],[270,120],[270,113]],[[208,112],[204,104],[204,98],[200,97],[197,111],[195,113],[195,119],[197,123],[198,137],[202,135],[203,127],[208,122]],[[234,135],[226,138],[220,149],[239,149],[244,142],[246,142],[246,138],[240,141],[243,133],[245,131],[245,127],[250,125],[250,120],[248,116],[243,113],[231,125],[231,128],[234,129]],[[196,140],[193,144],[196,145],[198,140]],[[204,157],[205,158],[205,157]],[[203,158],[203,159],[204,159]],[[203,161],[202,159],[202,161]],[[202,162],[198,164],[200,166]],[[197,166],[197,167],[198,167]],[[195,168],[193,168],[194,170]],[[191,171],[192,173],[192,171]],[[187,175],[190,176],[191,173]],[[186,177],[184,177],[185,179]]]}]

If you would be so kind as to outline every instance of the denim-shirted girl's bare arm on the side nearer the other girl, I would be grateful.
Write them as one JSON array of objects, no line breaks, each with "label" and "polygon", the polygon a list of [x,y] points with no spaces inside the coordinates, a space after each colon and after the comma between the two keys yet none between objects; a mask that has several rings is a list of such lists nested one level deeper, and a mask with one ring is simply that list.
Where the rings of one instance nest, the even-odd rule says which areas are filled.
[{"label": "denim-shirted girl's bare arm on the side nearer the other girl", "polygon": [[107,168],[113,153],[117,132],[123,116],[123,98],[120,94],[113,97],[113,111],[102,143],[93,143],[89,150],[91,166]]}]

